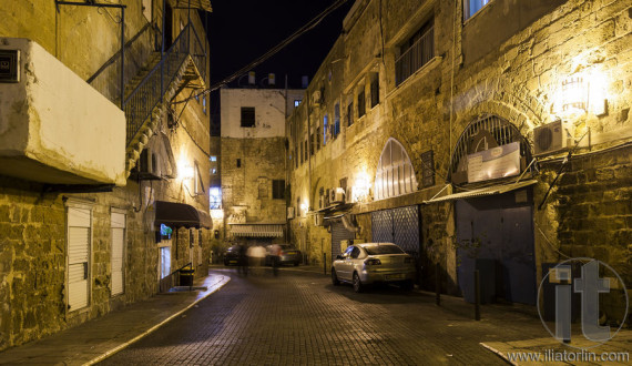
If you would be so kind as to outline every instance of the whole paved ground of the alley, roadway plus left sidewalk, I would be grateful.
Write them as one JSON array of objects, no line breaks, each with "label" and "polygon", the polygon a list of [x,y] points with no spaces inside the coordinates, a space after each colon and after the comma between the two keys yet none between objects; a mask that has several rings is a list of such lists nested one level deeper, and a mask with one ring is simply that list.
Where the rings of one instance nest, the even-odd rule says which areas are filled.
[{"label": "whole paved ground of the alley, roadway plus left sidewalk", "polygon": [[[504,363],[493,352],[555,346],[528,306],[483,305],[482,321],[475,322],[462,298],[442,296],[437,307],[435,295],[424,292],[355,294],[333,286],[322,267],[284,267],[279,277],[264,268],[248,277],[215,270],[205,292],[154,296],[0,353],[0,364],[91,364],[137,339],[103,364],[487,365]],[[629,352],[631,342],[622,331],[608,347]]]}]

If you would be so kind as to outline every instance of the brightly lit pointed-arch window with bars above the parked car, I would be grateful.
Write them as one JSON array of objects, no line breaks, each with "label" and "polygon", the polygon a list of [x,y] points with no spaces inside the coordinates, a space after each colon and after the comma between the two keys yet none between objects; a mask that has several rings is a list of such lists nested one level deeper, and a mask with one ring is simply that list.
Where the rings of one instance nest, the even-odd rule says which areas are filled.
[{"label": "brightly lit pointed-arch window with bars above the parked car", "polygon": [[417,191],[417,179],[410,159],[399,141],[386,142],[375,175],[375,199],[396,197]]}]

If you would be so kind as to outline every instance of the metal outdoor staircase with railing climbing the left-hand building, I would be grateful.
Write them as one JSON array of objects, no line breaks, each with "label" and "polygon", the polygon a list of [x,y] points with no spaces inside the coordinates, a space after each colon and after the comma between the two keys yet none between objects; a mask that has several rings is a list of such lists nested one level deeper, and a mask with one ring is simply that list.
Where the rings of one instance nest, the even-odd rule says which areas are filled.
[{"label": "metal outdoor staircase with railing climbing the left-hand building", "polygon": [[122,109],[126,119],[125,171],[149,142],[169,103],[186,87],[205,88],[206,53],[188,23],[164,53],[154,52],[146,67],[125,85]]}]

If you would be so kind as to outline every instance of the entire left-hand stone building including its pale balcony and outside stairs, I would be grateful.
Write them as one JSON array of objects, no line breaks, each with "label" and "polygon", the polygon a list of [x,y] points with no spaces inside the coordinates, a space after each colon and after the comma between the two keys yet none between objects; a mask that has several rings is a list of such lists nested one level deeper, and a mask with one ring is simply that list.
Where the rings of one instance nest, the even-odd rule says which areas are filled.
[{"label": "entire left-hand stone building including its pale balcony and outside stairs", "polygon": [[207,272],[204,17],[106,4],[0,3],[0,349]]}]

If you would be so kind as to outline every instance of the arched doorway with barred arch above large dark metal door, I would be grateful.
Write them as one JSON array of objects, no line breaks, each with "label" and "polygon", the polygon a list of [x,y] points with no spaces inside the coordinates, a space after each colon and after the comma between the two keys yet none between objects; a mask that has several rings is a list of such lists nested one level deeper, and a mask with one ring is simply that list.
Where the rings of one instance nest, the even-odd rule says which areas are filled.
[{"label": "arched doorway with barred arch above large dark metal door", "polygon": [[497,115],[471,122],[457,142],[450,181],[480,192],[455,200],[457,276],[468,302],[478,270],[482,302],[536,304],[533,192],[517,184],[531,160],[528,141]]}]

